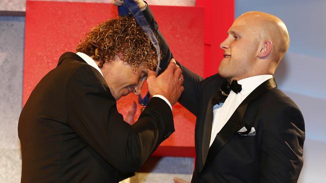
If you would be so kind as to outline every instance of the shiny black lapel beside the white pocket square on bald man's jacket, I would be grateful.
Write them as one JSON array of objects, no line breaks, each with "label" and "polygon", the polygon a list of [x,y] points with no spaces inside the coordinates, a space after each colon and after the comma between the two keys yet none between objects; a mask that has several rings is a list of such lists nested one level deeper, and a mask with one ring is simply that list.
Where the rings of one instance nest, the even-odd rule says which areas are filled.
[{"label": "shiny black lapel beside the white pocket square on bald man's jacket", "polygon": [[[241,126],[243,125],[242,118],[246,112],[247,106],[250,101],[254,100],[264,92],[277,87],[274,78],[270,78],[260,84],[256,89],[254,89],[238,106],[238,108],[234,111],[228,122],[223,126],[221,131],[216,135],[214,142],[209,148],[207,158],[204,164],[202,171],[208,166],[210,162],[212,162],[217,155],[217,153],[221,150],[221,148],[227,143],[232,135],[237,132]],[[211,135],[209,135],[211,136]]]}]

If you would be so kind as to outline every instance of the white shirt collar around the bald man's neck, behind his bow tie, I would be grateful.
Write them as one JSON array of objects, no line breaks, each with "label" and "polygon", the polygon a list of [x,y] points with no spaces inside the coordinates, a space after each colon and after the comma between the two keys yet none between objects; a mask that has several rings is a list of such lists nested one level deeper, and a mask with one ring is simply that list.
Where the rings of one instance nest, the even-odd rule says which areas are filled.
[{"label": "white shirt collar around the bald man's neck, behind his bow tie", "polygon": [[244,79],[240,79],[238,80],[238,83],[241,84],[242,86],[242,90],[240,91],[240,93],[242,95],[248,95],[261,83],[265,82],[266,80],[272,77],[273,75],[271,74],[264,74],[264,75],[255,75]]}]

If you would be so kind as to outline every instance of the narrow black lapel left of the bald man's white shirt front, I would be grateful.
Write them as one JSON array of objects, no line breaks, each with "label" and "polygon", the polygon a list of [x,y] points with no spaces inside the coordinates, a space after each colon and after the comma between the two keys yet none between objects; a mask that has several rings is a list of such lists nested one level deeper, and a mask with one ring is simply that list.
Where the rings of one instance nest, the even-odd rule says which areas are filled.
[{"label": "narrow black lapel left of the bald man's white shirt front", "polygon": [[203,138],[202,138],[202,164],[205,164],[205,160],[209,150],[209,144],[211,141],[211,133],[212,133],[212,123],[213,123],[213,101],[216,97],[219,97],[220,91],[215,92],[210,100],[208,101],[206,115],[205,115],[205,122],[204,122],[204,129],[203,129]]}]

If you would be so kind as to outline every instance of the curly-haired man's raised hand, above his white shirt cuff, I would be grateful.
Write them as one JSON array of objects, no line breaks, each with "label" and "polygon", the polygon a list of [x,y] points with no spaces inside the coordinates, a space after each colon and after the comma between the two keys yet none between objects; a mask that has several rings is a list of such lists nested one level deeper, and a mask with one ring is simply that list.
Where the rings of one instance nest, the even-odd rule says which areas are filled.
[{"label": "curly-haired man's raised hand, above his white shirt cuff", "polygon": [[184,76],[181,68],[172,58],[167,69],[156,77],[156,72],[148,71],[147,84],[150,95],[160,94],[174,105],[184,91]]}]

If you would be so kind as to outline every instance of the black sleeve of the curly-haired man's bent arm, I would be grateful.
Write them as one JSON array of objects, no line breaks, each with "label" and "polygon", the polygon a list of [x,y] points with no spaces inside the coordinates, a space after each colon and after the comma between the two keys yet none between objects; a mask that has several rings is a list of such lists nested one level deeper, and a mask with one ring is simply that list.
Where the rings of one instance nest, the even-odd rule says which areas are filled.
[{"label": "black sleeve of the curly-haired man's bent arm", "polygon": [[68,122],[114,168],[134,171],[174,131],[171,108],[164,100],[151,98],[138,120],[129,125],[96,72],[83,65],[72,74],[66,96]]}]

